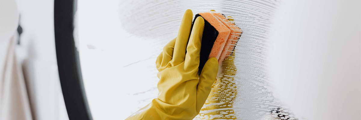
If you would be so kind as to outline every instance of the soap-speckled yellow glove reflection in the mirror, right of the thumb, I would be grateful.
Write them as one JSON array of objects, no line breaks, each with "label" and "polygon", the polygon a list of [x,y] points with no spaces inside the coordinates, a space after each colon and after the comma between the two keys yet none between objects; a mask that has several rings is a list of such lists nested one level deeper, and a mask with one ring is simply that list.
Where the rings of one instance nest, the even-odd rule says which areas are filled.
[{"label": "soap-speckled yellow glove reflection in the mirror, right of the thumb", "polygon": [[237,94],[234,80],[237,69],[234,65],[234,59],[233,52],[223,61],[222,77],[213,83],[212,90],[199,114],[200,116],[197,116],[196,119],[236,119],[232,108]]}]

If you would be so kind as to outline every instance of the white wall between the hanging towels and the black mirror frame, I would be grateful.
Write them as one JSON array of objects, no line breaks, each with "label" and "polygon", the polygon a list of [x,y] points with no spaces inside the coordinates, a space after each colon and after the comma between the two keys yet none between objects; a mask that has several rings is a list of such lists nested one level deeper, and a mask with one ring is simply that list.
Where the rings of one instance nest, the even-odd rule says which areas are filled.
[{"label": "white wall between the hanging towels and the black mirror frame", "polygon": [[35,120],[66,120],[57,71],[54,40],[54,2],[17,0],[23,28],[17,57],[29,87]]}]

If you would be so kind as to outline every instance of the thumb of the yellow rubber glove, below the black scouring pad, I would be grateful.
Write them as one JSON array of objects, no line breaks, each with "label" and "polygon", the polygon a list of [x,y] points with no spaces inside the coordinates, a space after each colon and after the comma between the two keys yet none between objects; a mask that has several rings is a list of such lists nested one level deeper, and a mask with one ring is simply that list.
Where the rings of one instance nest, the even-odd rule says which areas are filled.
[{"label": "thumb of the yellow rubber glove, below the black scouring pad", "polygon": [[196,110],[199,112],[207,100],[212,84],[216,80],[218,72],[218,60],[215,57],[208,59],[199,76],[197,85],[197,103]]}]

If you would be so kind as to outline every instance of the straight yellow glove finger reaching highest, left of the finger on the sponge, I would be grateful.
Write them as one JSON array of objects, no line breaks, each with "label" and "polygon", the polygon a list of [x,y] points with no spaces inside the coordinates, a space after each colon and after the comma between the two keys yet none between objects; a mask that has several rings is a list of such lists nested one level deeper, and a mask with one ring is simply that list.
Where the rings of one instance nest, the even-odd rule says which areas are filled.
[{"label": "straight yellow glove finger reaching highest, left of the finger on the sponge", "polygon": [[183,15],[181,27],[179,27],[177,40],[175,41],[173,59],[171,60],[172,66],[181,64],[186,57],[187,43],[192,27],[192,18],[192,10],[186,10]]}]

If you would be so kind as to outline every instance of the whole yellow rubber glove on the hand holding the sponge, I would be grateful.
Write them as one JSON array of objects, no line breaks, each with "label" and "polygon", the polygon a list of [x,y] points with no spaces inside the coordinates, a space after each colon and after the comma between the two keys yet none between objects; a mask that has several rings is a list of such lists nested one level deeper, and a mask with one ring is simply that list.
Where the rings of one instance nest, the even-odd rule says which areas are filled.
[{"label": "whole yellow rubber glove on the hand holding the sponge", "polygon": [[176,39],[158,56],[158,97],[126,120],[192,120],[204,105],[216,80],[218,61],[208,59],[198,76],[204,19],[197,17],[192,31],[191,10],[184,13]]}]

